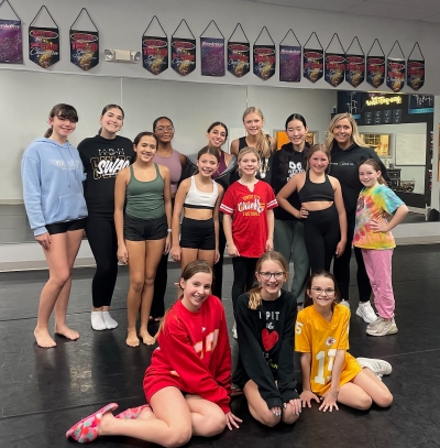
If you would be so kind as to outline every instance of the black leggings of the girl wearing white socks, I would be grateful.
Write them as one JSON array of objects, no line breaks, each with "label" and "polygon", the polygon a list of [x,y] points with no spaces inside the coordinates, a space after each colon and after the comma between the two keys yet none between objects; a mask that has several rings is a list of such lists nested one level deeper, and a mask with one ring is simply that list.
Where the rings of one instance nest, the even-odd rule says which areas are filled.
[{"label": "black leggings of the girl wearing white socks", "polygon": [[97,264],[91,281],[94,307],[110,306],[118,276],[118,239],[113,218],[89,216],[86,233]]}]

